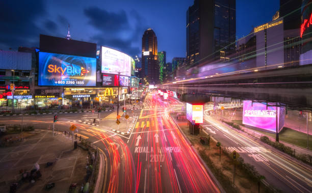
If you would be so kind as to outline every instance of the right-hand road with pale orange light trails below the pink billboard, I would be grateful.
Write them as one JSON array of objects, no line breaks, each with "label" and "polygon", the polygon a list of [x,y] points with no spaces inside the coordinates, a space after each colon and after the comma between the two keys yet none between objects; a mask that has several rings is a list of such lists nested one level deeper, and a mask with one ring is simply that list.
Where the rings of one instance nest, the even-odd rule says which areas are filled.
[{"label": "right-hand road with pale orange light trails below the pink billboard", "polygon": [[[210,110],[210,109],[209,109]],[[236,150],[246,163],[282,192],[312,192],[312,169],[273,147],[262,144],[210,117],[205,110],[204,131],[229,151]]]}]

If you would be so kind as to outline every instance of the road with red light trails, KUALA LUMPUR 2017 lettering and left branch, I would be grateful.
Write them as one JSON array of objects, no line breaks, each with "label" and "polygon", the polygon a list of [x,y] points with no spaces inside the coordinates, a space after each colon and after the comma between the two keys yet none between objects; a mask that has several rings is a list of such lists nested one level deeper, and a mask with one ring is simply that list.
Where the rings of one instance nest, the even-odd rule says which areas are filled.
[{"label": "road with red light trails, KUALA LUMPUR 2017 lettering and left branch", "polygon": [[[134,111],[138,119],[127,136],[105,126],[114,112],[102,112],[100,124],[94,125],[87,123],[97,118],[97,113],[59,114],[55,130],[69,131],[75,124],[78,135],[107,155],[108,178],[103,192],[220,192],[173,122],[169,111],[178,102],[171,103],[173,107],[158,94],[148,94],[147,108]],[[0,117],[0,123],[21,123],[21,119],[35,128],[53,128],[53,114]]]}]

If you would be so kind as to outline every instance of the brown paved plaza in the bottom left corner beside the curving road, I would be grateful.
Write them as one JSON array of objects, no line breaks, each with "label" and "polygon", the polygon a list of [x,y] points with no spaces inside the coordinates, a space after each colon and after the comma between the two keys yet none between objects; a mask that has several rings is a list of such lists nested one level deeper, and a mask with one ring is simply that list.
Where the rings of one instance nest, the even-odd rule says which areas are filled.
[{"label": "brown paved plaza in the bottom left corner beside the curving road", "polygon": [[[0,189],[9,192],[13,182],[21,180],[21,171],[31,171],[34,164],[40,166],[41,177],[35,183],[21,182],[17,192],[42,192],[45,185],[55,183],[49,192],[68,192],[71,183],[85,183],[88,151],[73,149],[71,139],[51,132],[27,132],[21,142],[0,148]],[[47,162],[53,165],[46,167]]]}]

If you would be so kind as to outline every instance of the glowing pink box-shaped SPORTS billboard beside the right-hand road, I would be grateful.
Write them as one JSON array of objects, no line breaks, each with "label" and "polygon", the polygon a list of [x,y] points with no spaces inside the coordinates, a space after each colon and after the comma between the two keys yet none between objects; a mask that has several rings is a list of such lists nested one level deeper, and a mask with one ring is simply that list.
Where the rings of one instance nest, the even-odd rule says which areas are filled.
[{"label": "glowing pink box-shaped SPORTS billboard beside the right-hand road", "polygon": [[[285,112],[283,108],[277,107],[277,121],[278,132],[280,132],[285,122]],[[243,124],[262,128],[275,133],[276,107],[252,101],[244,101]]]}]

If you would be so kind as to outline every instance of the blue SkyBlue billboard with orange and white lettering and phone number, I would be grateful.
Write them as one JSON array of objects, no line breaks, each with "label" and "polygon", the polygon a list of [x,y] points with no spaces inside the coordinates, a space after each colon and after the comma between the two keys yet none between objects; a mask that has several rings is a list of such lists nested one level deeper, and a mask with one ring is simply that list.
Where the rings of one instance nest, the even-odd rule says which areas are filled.
[{"label": "blue SkyBlue billboard with orange and white lettering and phone number", "polygon": [[95,86],[96,58],[39,52],[39,86]]}]

